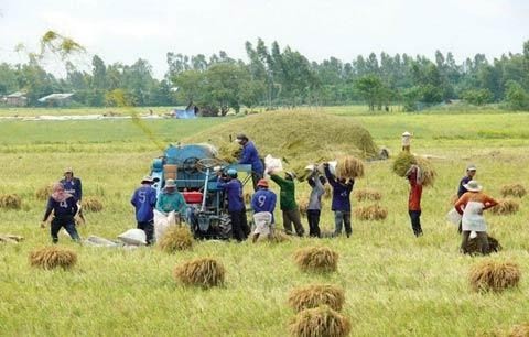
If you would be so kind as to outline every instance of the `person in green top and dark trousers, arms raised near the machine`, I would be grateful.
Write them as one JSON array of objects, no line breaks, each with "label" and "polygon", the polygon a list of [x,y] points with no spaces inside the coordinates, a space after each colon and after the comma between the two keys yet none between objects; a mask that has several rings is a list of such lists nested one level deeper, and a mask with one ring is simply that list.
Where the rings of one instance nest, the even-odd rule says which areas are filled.
[{"label": "person in green top and dark trousers, arms raised near the machine", "polygon": [[270,178],[279,185],[279,204],[283,215],[283,228],[288,235],[292,235],[292,222],[294,222],[295,233],[303,237],[305,230],[301,225],[300,208],[295,203],[295,174],[285,172],[284,178],[274,173],[269,173]]}]

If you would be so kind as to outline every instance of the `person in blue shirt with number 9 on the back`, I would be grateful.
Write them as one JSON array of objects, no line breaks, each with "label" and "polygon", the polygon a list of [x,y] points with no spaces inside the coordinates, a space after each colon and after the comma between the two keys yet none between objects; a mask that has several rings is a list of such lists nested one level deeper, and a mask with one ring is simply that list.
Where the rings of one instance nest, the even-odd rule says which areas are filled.
[{"label": "person in blue shirt with number 9 on the back", "polygon": [[253,231],[252,242],[259,239],[259,235],[268,236],[270,238],[273,232],[273,210],[276,209],[276,193],[268,189],[268,182],[260,180],[257,183],[259,188],[251,197],[251,208],[253,209],[253,224],[256,230]]}]

